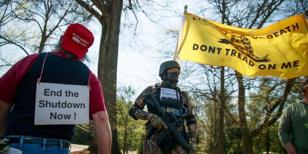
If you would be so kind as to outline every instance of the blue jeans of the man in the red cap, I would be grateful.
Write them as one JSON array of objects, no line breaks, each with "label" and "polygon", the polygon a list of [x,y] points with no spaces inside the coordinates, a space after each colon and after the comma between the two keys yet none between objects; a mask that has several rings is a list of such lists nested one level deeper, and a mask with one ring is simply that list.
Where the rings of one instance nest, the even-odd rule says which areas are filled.
[{"label": "blue jeans of the man in the red cap", "polygon": [[[7,136],[7,138],[11,137],[21,137],[21,136],[16,136],[16,135]],[[24,136],[24,137],[29,138],[29,136]],[[36,138],[36,137],[31,137],[31,138]],[[20,143],[11,143],[9,147],[21,150],[22,154],[69,154],[69,148],[67,147],[48,146],[46,144],[42,145],[29,144],[29,143],[23,143],[22,141],[23,139],[21,139]]]}]

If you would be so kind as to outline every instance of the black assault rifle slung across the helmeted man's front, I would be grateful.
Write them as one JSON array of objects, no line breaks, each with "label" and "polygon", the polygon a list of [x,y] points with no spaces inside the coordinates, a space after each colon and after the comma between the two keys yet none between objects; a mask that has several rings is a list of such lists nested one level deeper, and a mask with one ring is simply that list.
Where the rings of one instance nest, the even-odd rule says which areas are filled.
[{"label": "black assault rifle slung across the helmeted man's front", "polygon": [[[163,141],[163,138],[168,134],[172,133],[175,140],[178,144],[185,149],[185,151],[190,154],[190,149],[188,148],[187,141],[185,141],[184,137],[182,136],[181,132],[178,131],[178,127],[182,125],[182,119],[176,118],[173,112],[169,112],[168,114],[163,112],[163,109],[160,107],[159,103],[155,99],[153,94],[150,94],[149,97],[146,98],[148,103],[151,103],[152,106],[155,106],[159,113],[162,114],[161,118],[163,122],[168,126],[168,129],[163,129],[159,135],[156,137],[157,142],[160,143]],[[175,125],[174,125],[175,123]]]}]

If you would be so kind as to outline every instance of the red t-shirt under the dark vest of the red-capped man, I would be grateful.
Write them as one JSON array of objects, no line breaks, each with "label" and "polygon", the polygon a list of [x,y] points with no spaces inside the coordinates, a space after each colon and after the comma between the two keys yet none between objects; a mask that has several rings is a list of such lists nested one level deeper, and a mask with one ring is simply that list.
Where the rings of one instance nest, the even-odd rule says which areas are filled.
[{"label": "red t-shirt under the dark vest of the red-capped man", "polygon": [[[63,52],[50,52],[54,55],[58,55],[60,57],[65,57],[65,53]],[[26,56],[25,58],[19,60],[15,65],[11,67],[1,78],[0,78],[0,100],[13,103],[12,100],[15,97],[16,87],[19,81],[23,78],[26,72],[29,70],[31,65],[36,60],[39,54],[33,54]],[[89,85],[91,87],[90,90],[90,120],[93,120],[92,114],[97,113],[99,111],[106,111],[106,107],[104,104],[104,98],[102,93],[102,86],[97,77],[89,71],[90,82]]]}]

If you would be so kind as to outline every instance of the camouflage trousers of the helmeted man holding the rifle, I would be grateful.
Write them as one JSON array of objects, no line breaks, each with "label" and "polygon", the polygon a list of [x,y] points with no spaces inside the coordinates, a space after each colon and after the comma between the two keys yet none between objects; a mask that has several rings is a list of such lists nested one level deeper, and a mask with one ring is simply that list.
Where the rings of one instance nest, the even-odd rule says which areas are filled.
[{"label": "camouflage trousers of the helmeted man holding the rifle", "polygon": [[157,140],[155,138],[155,135],[152,135],[148,140],[145,137],[143,142],[143,149],[144,154],[187,154],[187,152],[179,145],[177,145],[175,149],[171,152],[161,152],[160,148],[157,146]]}]

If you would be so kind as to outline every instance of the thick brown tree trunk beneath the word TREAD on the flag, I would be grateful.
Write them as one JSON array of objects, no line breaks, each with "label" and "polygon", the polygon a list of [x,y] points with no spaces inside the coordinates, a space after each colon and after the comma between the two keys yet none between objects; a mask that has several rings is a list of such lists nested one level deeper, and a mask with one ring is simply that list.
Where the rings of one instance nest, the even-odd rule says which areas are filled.
[{"label": "thick brown tree trunk beneath the word TREAD on the flag", "polygon": [[245,113],[245,89],[243,84],[243,76],[239,72],[235,72],[236,79],[239,84],[239,97],[238,97],[238,106],[239,106],[239,127],[242,133],[242,147],[243,154],[253,154],[252,150],[252,138],[249,134],[249,129],[246,121]]}]

